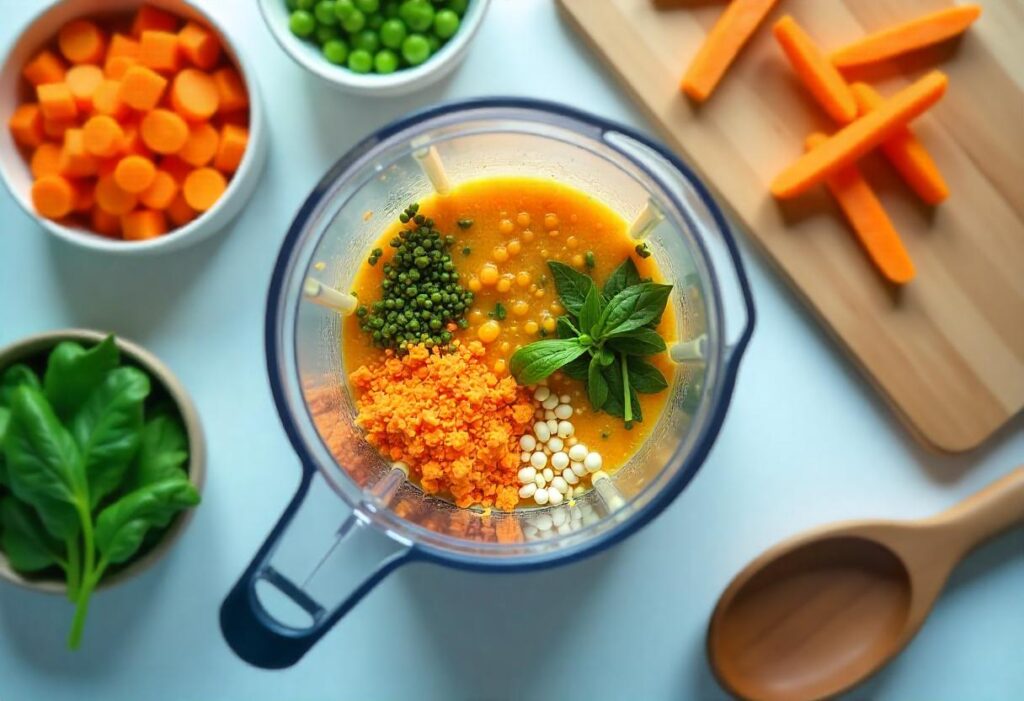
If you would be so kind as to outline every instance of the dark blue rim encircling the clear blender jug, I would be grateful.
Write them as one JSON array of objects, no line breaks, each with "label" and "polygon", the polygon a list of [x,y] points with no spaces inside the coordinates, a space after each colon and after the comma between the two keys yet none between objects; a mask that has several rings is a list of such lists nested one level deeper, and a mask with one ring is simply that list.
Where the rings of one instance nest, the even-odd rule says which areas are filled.
[{"label": "dark blue rim encircling the clear blender jug", "polygon": [[[274,405],[278,409],[278,415],[281,419],[285,434],[292,443],[292,447],[298,454],[302,466],[303,475],[299,485],[299,492],[304,491],[308,487],[309,480],[311,480],[313,475],[318,472],[318,468],[314,464],[315,461],[313,456],[307,451],[299,429],[295,425],[291,415],[288,398],[285,394],[285,383],[280,377],[285,370],[281,369],[281,364],[279,362],[280,357],[276,350],[275,336],[279,327],[278,322],[280,321],[279,308],[282,306],[278,304],[278,301],[283,299],[282,293],[284,291],[284,282],[287,277],[291,253],[294,249],[296,240],[302,233],[305,222],[321,204],[321,201],[330,189],[330,185],[336,180],[337,176],[345,172],[370,149],[377,146],[382,141],[406,129],[409,129],[410,127],[416,126],[425,120],[434,119],[456,112],[503,107],[548,113],[565,117],[599,130],[602,136],[609,131],[622,133],[650,148],[657,156],[668,161],[673,167],[677,168],[686,178],[690,186],[693,187],[701,204],[711,214],[715,225],[719,229],[719,233],[722,235],[729,258],[735,267],[736,278],[739,283],[740,292],[742,293],[743,305],[746,312],[745,326],[736,342],[726,347],[723,351],[722,380],[719,389],[719,396],[713,398],[713,404],[710,408],[710,413],[708,414],[707,424],[703,427],[701,435],[697,436],[695,442],[693,443],[692,450],[689,455],[683,458],[682,469],[669,480],[663,489],[652,495],[646,505],[641,507],[629,519],[613,527],[605,535],[594,538],[593,541],[587,542],[571,551],[556,550],[539,556],[525,556],[503,560],[490,560],[478,556],[474,557],[447,551],[439,551],[429,544],[422,544],[414,541],[410,543],[409,551],[403,557],[400,557],[397,562],[393,562],[392,565],[387,567],[384,571],[379,570],[375,573],[376,576],[365,582],[365,584],[369,584],[370,586],[376,584],[379,579],[383,578],[383,576],[385,576],[387,572],[390,572],[394,567],[403,562],[410,562],[413,560],[434,562],[459,569],[479,571],[528,571],[560,566],[596,555],[597,553],[611,547],[637,532],[653,520],[654,517],[665,511],[665,509],[668,508],[669,505],[671,505],[672,501],[683,491],[686,485],[688,485],[696,475],[697,471],[703,466],[703,463],[708,457],[708,453],[711,451],[715,440],[718,438],[718,434],[721,432],[722,424],[725,422],[725,414],[732,400],[732,392],[735,388],[740,360],[742,359],[754,334],[754,327],[757,320],[757,312],[754,306],[754,296],[751,291],[746,270],[743,267],[742,259],[739,255],[739,248],[733,237],[732,230],[726,222],[725,216],[722,214],[718,204],[712,198],[711,192],[700,178],[688,165],[669,150],[664,144],[617,122],[597,117],[590,113],[575,109],[558,102],[526,97],[477,97],[452,100],[412,112],[407,116],[398,118],[397,120],[385,125],[354,144],[334,164],[334,166],[330,168],[330,170],[328,170],[327,174],[319,180],[319,182],[316,183],[312,192],[310,192],[309,196],[306,198],[305,202],[299,208],[298,213],[292,221],[292,225],[288,229],[288,233],[282,242],[281,252],[279,253],[278,260],[274,263],[269,289],[267,291],[264,326],[267,377],[270,383],[270,391],[273,396]],[[651,172],[647,166],[640,163],[630,154],[621,150],[620,152],[631,163],[637,166],[645,175],[651,178],[654,182],[657,182],[665,189],[666,194],[677,207],[677,209],[684,213],[686,219],[689,220],[689,215],[686,214],[686,207],[673,193],[672,187],[668,186],[660,176]],[[692,226],[692,222],[687,221],[687,223]],[[705,242],[699,236],[693,236],[693,240],[696,242],[705,260],[711,261],[712,257],[709,255]],[[711,270],[713,271],[714,269],[712,268]],[[716,297],[721,300],[722,295],[718,282],[718,276],[716,274],[711,274],[709,277]],[[722,319],[718,320],[722,321]],[[724,331],[724,324],[721,325]],[[266,544],[274,540],[284,528],[287,527],[292,516],[294,516],[300,507],[301,502],[298,499],[293,499],[286,507],[282,516],[279,518],[276,525],[273,527],[271,532],[267,534],[264,549]],[[355,505],[354,508],[357,509],[358,505]]]}]

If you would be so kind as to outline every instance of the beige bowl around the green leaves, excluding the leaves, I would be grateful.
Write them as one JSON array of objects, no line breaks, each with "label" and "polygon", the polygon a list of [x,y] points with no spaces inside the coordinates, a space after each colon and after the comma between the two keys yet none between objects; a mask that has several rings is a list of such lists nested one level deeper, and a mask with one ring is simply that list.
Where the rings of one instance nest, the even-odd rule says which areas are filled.
[{"label": "beige bowl around the green leaves, excluding the leaves", "polygon": [[[38,334],[23,339],[9,346],[0,348],[0,371],[6,369],[15,362],[24,362],[41,354],[48,353],[61,341],[79,341],[85,343],[99,343],[106,337],[95,331],[84,328],[65,328],[60,331]],[[206,439],[203,436],[203,427],[200,425],[199,414],[191,399],[185,393],[184,387],[178,382],[171,370],[162,363],[157,356],[144,348],[117,339],[118,348],[121,349],[125,357],[131,359],[139,367],[144,369],[154,381],[155,385],[163,387],[167,395],[174,402],[181,415],[181,421],[188,436],[188,477],[200,492],[206,482]],[[115,586],[123,581],[141,574],[157,563],[170,551],[174,542],[184,532],[185,527],[191,521],[194,509],[181,513],[167,530],[164,531],[160,541],[150,547],[141,557],[132,560],[127,566],[117,570],[110,576],[103,577],[97,588],[103,589]],[[66,594],[68,588],[62,579],[49,579],[45,577],[34,577],[23,575],[11,569],[7,563],[7,557],[0,551],[0,579],[6,579],[20,586],[35,592],[45,592],[46,594]]]}]

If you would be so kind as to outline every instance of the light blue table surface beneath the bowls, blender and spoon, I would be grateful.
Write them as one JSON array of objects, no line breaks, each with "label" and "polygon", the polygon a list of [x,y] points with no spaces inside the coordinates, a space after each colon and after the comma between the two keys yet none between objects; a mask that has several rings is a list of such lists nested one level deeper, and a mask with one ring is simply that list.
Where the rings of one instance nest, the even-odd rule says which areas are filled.
[{"label": "light blue table surface beneath the bowls, blender and spoon", "polygon": [[[37,4],[0,0],[0,48]],[[232,226],[165,258],[93,257],[0,194],[0,345],[71,325],[140,342],[191,391],[210,457],[185,537],[160,566],[96,597],[83,651],[65,651],[67,602],[0,584],[3,701],[722,698],[705,626],[753,556],[836,519],[931,514],[1024,462],[1020,418],[970,455],[914,443],[743,244],[759,325],[715,449],[658,519],[554,570],[408,567],[298,666],[247,666],[217,613],[298,483],[261,335],[279,244],[313,184],[372,129],[441,99],[528,95],[650,126],[551,0],[496,0],[454,77],[397,99],[329,90],[282,53],[251,0],[204,4],[233,26],[271,118],[265,175]],[[907,650],[851,698],[1024,698],[1024,533],[972,556]]]}]

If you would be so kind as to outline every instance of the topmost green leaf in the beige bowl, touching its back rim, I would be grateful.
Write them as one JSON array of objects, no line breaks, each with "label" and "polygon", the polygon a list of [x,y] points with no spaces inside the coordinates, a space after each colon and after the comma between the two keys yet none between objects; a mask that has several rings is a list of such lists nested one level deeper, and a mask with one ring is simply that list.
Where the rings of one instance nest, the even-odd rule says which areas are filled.
[{"label": "topmost green leaf in the beige bowl, touching its back rim", "polygon": [[58,417],[70,420],[81,408],[106,374],[121,362],[113,336],[85,350],[77,343],[57,344],[43,376],[46,398]]}]

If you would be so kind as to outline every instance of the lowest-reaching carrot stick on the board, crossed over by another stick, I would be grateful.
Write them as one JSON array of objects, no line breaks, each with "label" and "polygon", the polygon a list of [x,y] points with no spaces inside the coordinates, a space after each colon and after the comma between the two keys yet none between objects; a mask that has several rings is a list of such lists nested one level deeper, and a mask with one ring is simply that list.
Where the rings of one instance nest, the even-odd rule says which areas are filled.
[{"label": "lowest-reaching carrot stick on the board, crossed over by another stick", "polygon": [[[814,152],[815,148],[820,148],[827,142],[828,137],[824,134],[811,134],[807,137],[808,151]],[[836,198],[840,209],[853,226],[857,238],[860,239],[879,271],[897,284],[904,284],[913,279],[913,261],[903,248],[899,232],[883,209],[882,203],[857,167],[847,166],[836,172],[825,180],[825,185]]]}]

